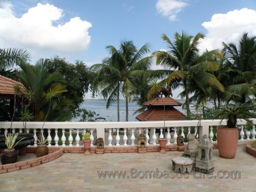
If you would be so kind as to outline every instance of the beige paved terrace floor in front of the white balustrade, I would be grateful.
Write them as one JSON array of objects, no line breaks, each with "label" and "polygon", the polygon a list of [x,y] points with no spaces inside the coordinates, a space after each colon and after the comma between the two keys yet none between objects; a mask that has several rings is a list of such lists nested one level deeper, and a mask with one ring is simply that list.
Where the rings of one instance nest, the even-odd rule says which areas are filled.
[{"label": "beige paved terrace floor in front of the white balustrade", "polygon": [[[241,178],[127,178],[131,169],[171,171],[171,159],[183,152],[109,153],[104,155],[64,154],[33,168],[0,175],[1,192],[256,192],[256,157],[239,146],[234,159],[219,157],[213,149],[215,171],[241,171]],[[127,171],[125,178],[99,178],[97,171]],[[196,177],[199,173],[196,172]]]}]

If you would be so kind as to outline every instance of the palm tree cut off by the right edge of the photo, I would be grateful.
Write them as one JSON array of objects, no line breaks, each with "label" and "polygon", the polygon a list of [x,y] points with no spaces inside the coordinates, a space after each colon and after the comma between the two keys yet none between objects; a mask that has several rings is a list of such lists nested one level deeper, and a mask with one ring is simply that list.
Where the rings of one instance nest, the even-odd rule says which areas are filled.
[{"label": "palm tree cut off by the right edge of the photo", "polygon": [[244,33],[238,47],[235,43],[223,45],[232,77],[228,91],[239,95],[235,101],[245,103],[256,91],[256,36],[248,37],[248,33]]}]

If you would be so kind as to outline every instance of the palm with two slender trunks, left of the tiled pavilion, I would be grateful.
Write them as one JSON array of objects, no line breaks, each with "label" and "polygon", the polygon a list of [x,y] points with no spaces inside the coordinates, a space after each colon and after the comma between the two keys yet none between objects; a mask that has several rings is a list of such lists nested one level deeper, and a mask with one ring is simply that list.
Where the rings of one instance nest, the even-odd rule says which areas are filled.
[{"label": "palm with two slender trunks, left of the tiled pavilion", "polygon": [[143,57],[148,54],[149,44],[144,44],[139,50],[136,49],[133,41],[123,40],[120,49],[114,46],[106,47],[111,57],[104,60],[102,64],[92,66],[98,71],[96,89],[101,91],[104,98],[108,97],[107,107],[117,101],[118,121],[120,94],[126,101],[126,121],[128,121],[128,101],[135,94],[135,80],[147,76],[152,57]]}]

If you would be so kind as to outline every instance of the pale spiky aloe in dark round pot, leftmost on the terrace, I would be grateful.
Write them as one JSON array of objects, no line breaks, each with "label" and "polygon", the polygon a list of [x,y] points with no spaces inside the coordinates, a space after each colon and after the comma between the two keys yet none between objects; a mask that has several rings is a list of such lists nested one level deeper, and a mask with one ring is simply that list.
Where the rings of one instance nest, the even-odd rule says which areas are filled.
[{"label": "pale spiky aloe in dark round pot, leftmost on the terrace", "polygon": [[20,141],[16,142],[16,138],[19,133],[14,134],[6,134],[5,135],[5,144],[7,146],[7,149],[4,149],[4,153],[1,158],[2,164],[13,164],[18,159],[18,154],[15,152],[14,147],[24,138],[22,138]]}]

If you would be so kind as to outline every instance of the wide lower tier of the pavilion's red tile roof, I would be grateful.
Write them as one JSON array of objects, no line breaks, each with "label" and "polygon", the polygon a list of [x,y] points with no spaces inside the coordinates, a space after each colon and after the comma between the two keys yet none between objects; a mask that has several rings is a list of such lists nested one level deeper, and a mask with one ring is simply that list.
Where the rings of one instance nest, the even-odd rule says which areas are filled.
[{"label": "wide lower tier of the pavilion's red tile roof", "polygon": [[181,113],[174,107],[164,108],[162,107],[151,107],[141,114],[136,116],[139,121],[174,121],[182,120],[185,114]]}]

